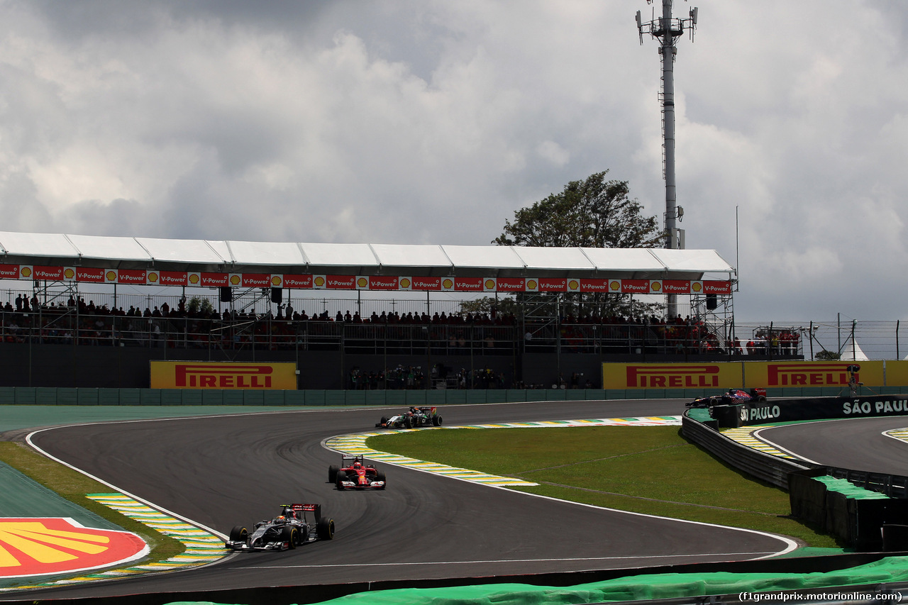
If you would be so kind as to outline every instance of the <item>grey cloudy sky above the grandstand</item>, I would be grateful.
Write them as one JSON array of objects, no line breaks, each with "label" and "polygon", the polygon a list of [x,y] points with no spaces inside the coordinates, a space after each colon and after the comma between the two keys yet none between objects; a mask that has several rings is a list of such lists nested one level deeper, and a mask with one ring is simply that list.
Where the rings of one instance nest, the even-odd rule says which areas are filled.
[{"label": "grey cloudy sky above the grandstand", "polygon": [[[686,247],[738,266],[739,322],[908,318],[908,4],[676,16],[694,5]],[[653,6],[0,0],[2,229],[488,244],[606,169],[661,221],[661,68],[637,10]]]}]

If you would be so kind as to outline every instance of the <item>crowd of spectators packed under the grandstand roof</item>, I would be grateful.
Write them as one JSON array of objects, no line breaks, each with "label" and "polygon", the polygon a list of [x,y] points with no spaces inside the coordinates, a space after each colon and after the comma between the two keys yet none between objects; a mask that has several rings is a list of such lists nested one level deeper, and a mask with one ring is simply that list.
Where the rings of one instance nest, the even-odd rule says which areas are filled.
[{"label": "crowd of spectators packed under the grandstand roof", "polygon": [[[173,299],[171,299],[173,300]],[[149,301],[151,302],[151,301]],[[207,302],[207,301],[206,301]],[[343,340],[350,352],[510,354],[518,348],[546,352],[613,352],[622,354],[750,354],[796,355],[797,329],[758,330],[746,342],[725,342],[705,322],[680,315],[671,320],[655,315],[639,317],[568,314],[558,321],[521,322],[499,312],[359,312],[307,313],[291,302],[271,305],[265,312],[222,309],[212,304],[187,302],[174,306],[164,300],[144,309],[130,305],[108,307],[69,296],[66,302],[41,304],[37,296],[19,294],[2,308],[0,336],[4,342],[40,342],[167,346],[173,348],[265,349],[320,348]],[[353,326],[344,330],[343,327]],[[361,326],[361,327],[360,327]],[[364,377],[363,383],[370,377]],[[382,381],[385,379],[382,378]],[[397,380],[397,378],[395,378]],[[406,381],[405,381],[406,382]]]}]

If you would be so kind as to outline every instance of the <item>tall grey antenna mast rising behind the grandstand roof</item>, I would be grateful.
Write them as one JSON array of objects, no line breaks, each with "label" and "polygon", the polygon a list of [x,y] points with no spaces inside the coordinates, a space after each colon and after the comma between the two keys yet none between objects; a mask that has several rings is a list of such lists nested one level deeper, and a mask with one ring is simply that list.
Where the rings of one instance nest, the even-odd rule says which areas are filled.
[{"label": "tall grey antenna mast rising behind the grandstand roof", "polygon": [[[652,4],[653,0],[646,0]],[[697,9],[690,9],[686,19],[672,18],[672,0],[662,0],[662,16],[656,18],[655,9],[651,21],[644,23],[637,11],[637,32],[640,35],[640,44],[643,45],[643,35],[649,34],[659,41],[659,55],[662,57],[662,93],[659,94],[662,102],[662,134],[663,134],[663,176],[666,179],[666,248],[683,249],[684,231],[676,228],[676,220],[680,220],[684,211],[676,204],[675,193],[675,56],[678,49],[675,41],[684,35],[685,29],[694,39],[696,31]],[[680,211],[680,212],[679,212]],[[667,300],[666,315],[672,319],[677,314],[677,296],[670,294]]]}]

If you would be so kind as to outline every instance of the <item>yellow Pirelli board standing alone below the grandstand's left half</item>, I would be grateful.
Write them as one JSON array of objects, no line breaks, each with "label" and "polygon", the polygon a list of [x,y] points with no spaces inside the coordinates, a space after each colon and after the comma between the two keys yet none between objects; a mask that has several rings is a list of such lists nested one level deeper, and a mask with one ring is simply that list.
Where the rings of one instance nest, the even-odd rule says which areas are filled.
[{"label": "yellow Pirelli board standing alone below the grandstand's left half", "polygon": [[153,389],[296,390],[295,363],[152,362]]}]

